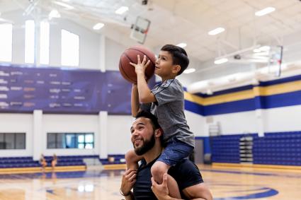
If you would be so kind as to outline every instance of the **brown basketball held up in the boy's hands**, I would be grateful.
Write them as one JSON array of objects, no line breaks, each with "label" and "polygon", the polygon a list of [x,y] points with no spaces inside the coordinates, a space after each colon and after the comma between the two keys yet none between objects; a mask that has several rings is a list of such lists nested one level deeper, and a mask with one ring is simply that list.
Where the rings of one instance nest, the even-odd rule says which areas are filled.
[{"label": "brown basketball held up in the boy's hands", "polygon": [[121,54],[119,61],[119,71],[125,80],[131,83],[137,83],[137,74],[135,72],[135,67],[130,65],[130,62],[137,64],[137,55],[140,55],[140,60],[143,60],[144,55],[147,57],[147,61],[150,60],[147,69],[145,69],[145,77],[147,80],[152,78],[154,75],[154,65],[156,62],[156,57],[154,53],[142,46],[135,46],[125,49],[123,54]]}]

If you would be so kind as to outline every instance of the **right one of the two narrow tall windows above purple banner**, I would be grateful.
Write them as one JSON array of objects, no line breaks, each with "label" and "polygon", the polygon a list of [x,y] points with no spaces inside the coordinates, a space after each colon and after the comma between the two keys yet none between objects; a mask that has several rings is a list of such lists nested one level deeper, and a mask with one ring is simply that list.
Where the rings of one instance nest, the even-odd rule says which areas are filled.
[{"label": "right one of the two narrow tall windows above purple banner", "polygon": [[50,25],[47,21],[40,23],[40,64],[49,64]]}]

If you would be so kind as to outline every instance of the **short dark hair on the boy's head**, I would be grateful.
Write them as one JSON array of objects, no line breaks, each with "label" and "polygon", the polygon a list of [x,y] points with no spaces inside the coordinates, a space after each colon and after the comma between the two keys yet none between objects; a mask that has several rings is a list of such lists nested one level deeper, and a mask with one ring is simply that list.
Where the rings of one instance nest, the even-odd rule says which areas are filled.
[{"label": "short dark hair on the boy's head", "polygon": [[173,64],[178,64],[179,66],[181,66],[181,69],[180,71],[178,71],[177,75],[180,75],[185,69],[187,69],[189,59],[186,51],[183,48],[176,45],[164,45],[161,48],[161,51],[169,52],[172,56]]}]

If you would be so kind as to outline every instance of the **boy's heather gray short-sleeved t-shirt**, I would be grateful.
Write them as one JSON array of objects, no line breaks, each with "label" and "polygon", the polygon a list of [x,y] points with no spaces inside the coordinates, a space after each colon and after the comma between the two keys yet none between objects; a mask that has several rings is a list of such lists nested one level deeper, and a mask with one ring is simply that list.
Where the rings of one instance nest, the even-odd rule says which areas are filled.
[{"label": "boy's heather gray short-sleeved t-shirt", "polygon": [[142,104],[140,108],[152,112],[164,131],[164,142],[176,138],[189,146],[195,146],[184,114],[184,93],[177,79],[164,81],[151,90],[157,102]]}]

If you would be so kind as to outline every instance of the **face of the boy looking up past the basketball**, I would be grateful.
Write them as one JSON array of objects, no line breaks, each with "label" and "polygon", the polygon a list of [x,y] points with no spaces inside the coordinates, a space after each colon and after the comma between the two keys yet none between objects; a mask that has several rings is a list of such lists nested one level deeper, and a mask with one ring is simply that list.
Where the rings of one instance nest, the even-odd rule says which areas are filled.
[{"label": "face of the boy looking up past the basketball", "polygon": [[154,73],[161,78],[171,76],[172,74],[176,75],[176,73],[178,73],[177,67],[173,64],[173,58],[169,52],[159,52]]}]

